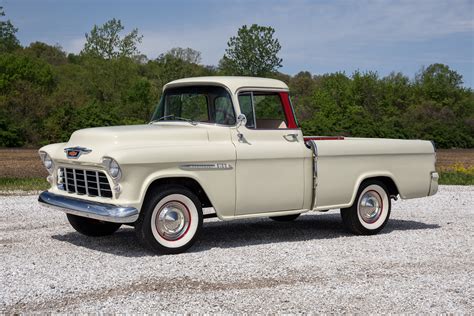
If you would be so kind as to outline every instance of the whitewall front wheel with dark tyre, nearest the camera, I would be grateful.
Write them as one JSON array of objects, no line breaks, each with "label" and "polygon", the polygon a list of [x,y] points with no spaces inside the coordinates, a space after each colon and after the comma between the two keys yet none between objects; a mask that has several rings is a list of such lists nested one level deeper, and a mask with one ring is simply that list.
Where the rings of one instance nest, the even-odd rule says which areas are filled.
[{"label": "whitewall front wheel with dark tyre, nearest the camera", "polygon": [[150,250],[176,254],[194,244],[202,221],[201,203],[193,192],[180,186],[163,186],[145,201],[135,232]]}]

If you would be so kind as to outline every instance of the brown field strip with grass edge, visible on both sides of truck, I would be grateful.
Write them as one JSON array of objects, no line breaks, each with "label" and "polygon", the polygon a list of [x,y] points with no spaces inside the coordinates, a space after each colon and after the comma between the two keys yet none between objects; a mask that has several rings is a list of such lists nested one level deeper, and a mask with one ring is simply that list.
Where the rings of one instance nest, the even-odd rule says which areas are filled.
[{"label": "brown field strip with grass edge, visible on both sides of truck", "polygon": [[[440,184],[474,185],[474,149],[440,149]],[[0,149],[0,191],[44,190],[46,176],[36,149]]]}]

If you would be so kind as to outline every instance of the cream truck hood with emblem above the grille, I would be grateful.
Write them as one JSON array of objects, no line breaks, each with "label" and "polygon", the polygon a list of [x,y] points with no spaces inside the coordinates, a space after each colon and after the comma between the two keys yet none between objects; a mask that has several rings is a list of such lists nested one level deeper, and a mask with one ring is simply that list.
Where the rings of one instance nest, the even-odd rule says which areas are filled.
[{"label": "cream truck hood with emblem above the grille", "polygon": [[[102,162],[102,157],[116,150],[196,145],[196,142],[208,140],[205,126],[173,122],[82,129],[74,132],[67,143],[48,145],[40,150],[48,152],[55,161],[97,164]],[[68,159],[64,149],[70,147],[91,151],[82,153],[77,159]]]}]

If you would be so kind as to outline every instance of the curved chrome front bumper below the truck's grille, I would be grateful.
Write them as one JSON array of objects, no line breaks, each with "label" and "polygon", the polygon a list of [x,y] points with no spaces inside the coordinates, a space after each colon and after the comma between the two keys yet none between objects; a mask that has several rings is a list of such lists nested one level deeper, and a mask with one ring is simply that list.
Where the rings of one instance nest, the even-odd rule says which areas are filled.
[{"label": "curved chrome front bumper below the truck's grille", "polygon": [[97,203],[44,191],[38,202],[59,209],[68,214],[98,219],[112,223],[133,223],[138,219],[138,210],[134,207]]}]

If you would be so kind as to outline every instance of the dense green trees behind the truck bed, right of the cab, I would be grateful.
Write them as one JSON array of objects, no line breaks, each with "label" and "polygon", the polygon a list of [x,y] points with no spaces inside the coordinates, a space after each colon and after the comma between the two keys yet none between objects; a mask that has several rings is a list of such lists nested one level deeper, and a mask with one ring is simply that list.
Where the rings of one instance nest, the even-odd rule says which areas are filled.
[{"label": "dense green trees behind the truck bed, right of the cab", "polygon": [[289,78],[306,134],[434,140],[440,148],[474,147],[474,94],[461,76],[433,64],[410,80],[374,72]]}]

